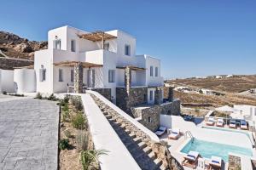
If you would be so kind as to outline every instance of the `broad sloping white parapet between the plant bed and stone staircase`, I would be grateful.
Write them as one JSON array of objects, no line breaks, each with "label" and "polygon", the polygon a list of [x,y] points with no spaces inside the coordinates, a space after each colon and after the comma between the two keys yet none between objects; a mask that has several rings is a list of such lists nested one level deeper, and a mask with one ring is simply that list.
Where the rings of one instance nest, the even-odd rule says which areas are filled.
[{"label": "broad sloping white parapet between the plant bed and stone staircase", "polygon": [[96,150],[108,150],[108,155],[99,158],[102,170],[139,170],[137,162],[113,127],[109,124],[102,111],[98,108],[90,94],[80,94],[84,105],[84,113],[90,126],[90,133]]}]

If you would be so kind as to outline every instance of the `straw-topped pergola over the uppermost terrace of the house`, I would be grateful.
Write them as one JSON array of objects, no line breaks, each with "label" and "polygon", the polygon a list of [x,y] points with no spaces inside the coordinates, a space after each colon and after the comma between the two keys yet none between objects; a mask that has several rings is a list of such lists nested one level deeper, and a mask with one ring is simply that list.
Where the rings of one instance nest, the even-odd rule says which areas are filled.
[{"label": "straw-topped pergola over the uppermost terrace of the house", "polygon": [[86,33],[86,34],[80,34],[78,36],[80,38],[84,38],[84,39],[92,41],[92,42],[102,41],[102,49],[104,48],[104,42],[106,40],[117,38],[111,34],[104,32],[104,31],[94,31],[94,32]]}]

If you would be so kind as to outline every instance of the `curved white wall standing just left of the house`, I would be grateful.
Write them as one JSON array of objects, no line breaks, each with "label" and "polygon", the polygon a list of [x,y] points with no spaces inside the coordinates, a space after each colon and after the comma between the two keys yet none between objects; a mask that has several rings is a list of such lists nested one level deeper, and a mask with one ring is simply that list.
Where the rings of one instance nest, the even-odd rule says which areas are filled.
[{"label": "curved white wall standing just left of the house", "polygon": [[33,69],[15,69],[14,82],[18,94],[36,91],[36,74]]}]

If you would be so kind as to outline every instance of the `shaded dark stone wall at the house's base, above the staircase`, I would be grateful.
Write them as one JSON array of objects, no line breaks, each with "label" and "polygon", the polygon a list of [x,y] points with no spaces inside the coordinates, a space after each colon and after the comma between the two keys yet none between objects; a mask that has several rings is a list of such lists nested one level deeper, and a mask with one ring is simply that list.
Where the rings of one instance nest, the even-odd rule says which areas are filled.
[{"label": "shaded dark stone wall at the house's base, above the staircase", "polygon": [[131,107],[146,104],[147,99],[148,88],[130,88],[129,93],[126,88],[116,88],[116,105],[130,116],[133,116]]}]

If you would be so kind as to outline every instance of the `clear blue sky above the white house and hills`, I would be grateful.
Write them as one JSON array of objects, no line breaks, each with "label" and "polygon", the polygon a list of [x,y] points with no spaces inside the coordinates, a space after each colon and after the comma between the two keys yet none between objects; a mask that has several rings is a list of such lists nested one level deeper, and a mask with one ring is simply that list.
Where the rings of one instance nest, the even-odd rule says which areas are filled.
[{"label": "clear blue sky above the white house and hills", "polygon": [[0,16],[0,30],[37,41],[66,25],[126,31],[165,78],[256,74],[255,0],[2,0]]}]

